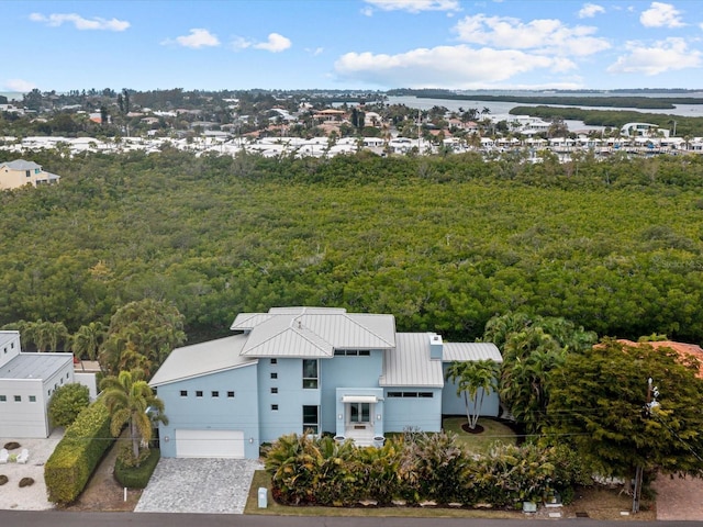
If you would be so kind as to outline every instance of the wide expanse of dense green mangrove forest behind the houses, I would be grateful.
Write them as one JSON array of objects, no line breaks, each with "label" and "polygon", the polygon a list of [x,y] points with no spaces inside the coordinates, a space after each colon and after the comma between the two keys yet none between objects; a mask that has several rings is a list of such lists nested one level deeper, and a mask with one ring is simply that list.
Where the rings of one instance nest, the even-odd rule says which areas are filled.
[{"label": "wide expanse of dense green mangrove forest behind the houses", "polygon": [[0,324],[75,333],[153,299],[191,340],[302,304],[449,339],[525,310],[703,340],[703,156],[584,159],[578,177],[475,155],[25,157],[62,182],[0,192]]}]

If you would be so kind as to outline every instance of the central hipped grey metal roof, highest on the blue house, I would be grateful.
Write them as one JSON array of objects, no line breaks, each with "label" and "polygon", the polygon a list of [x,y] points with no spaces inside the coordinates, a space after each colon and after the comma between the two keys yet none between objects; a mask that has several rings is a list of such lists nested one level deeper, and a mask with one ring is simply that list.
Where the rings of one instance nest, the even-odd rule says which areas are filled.
[{"label": "central hipped grey metal roof, highest on the blue house", "polygon": [[335,349],[391,349],[392,315],[347,313],[328,307],[275,307],[242,313],[232,329],[249,332],[244,357],[333,357]]}]

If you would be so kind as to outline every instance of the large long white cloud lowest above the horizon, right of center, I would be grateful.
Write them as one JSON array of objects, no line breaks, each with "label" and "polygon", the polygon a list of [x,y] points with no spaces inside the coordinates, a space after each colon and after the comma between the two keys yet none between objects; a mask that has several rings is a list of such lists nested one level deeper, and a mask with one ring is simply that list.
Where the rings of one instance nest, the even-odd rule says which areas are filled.
[{"label": "large long white cloud lowest above the horizon, right of center", "polygon": [[337,75],[378,86],[471,89],[494,85],[535,69],[563,71],[565,58],[515,49],[473,49],[466,45],[419,48],[398,55],[347,53],[335,63]]}]

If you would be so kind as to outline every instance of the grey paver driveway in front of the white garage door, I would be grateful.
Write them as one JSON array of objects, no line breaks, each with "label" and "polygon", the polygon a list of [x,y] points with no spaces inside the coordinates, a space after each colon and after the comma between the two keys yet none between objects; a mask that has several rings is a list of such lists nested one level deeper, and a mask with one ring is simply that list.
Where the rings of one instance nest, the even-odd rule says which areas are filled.
[{"label": "grey paver driveway in front of the white garage door", "polygon": [[243,514],[261,467],[250,459],[161,458],[134,512]]}]

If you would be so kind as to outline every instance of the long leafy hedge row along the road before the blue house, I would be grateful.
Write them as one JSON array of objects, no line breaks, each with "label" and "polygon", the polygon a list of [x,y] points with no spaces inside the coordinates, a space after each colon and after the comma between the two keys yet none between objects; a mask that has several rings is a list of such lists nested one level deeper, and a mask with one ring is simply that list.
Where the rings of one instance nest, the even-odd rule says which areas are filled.
[{"label": "long leafy hedge row along the road before the blue house", "polygon": [[433,501],[514,507],[522,502],[569,498],[590,481],[582,461],[565,447],[496,447],[472,456],[448,434],[387,439],[357,448],[328,437],[283,436],[267,452],[274,497],[287,505],[353,506],[365,500],[390,505]]}]

